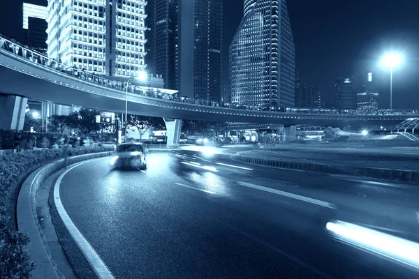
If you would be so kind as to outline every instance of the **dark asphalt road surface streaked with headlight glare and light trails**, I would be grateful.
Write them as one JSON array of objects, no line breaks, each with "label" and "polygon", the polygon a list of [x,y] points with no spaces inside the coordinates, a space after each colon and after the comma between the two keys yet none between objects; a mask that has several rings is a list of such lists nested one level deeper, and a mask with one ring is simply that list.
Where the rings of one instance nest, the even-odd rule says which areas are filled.
[{"label": "dark asphalt road surface streaked with headlight glare and light trails", "polygon": [[[115,278],[418,278],[417,255],[384,247],[419,243],[418,188],[248,165],[232,153],[193,165],[152,152],[145,172],[92,160],[64,176],[61,202]],[[339,221],[377,236],[348,241],[360,233],[332,232]],[[76,275],[91,278],[77,250],[64,247]]]}]

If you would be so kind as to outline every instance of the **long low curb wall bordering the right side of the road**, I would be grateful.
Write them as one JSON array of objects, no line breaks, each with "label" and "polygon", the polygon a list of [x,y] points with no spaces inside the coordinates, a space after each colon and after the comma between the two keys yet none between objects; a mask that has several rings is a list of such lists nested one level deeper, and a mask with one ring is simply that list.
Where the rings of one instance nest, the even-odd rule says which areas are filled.
[{"label": "long low curb wall bordering the right side of the road", "polygon": [[329,174],[355,174],[368,176],[377,179],[391,179],[400,181],[419,182],[419,172],[408,169],[385,169],[374,167],[343,167],[336,165],[321,165],[314,163],[301,163],[290,161],[279,161],[272,159],[254,158],[236,154],[235,158],[247,163],[267,165],[270,167],[282,167],[285,169],[300,169],[311,172],[327,172]]}]

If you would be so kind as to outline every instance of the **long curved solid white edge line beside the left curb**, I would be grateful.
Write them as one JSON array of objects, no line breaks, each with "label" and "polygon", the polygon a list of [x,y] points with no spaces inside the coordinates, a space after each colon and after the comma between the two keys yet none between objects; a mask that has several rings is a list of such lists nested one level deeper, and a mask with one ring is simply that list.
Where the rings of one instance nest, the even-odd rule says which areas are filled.
[{"label": "long curved solid white edge line beside the left curb", "polygon": [[[93,160],[96,160],[96,159],[93,159]],[[54,202],[55,202],[55,206],[57,207],[59,216],[61,217],[61,220],[63,220],[63,223],[66,226],[68,232],[71,234],[71,237],[73,237],[75,243],[77,243],[80,250],[82,250],[84,257],[86,257],[87,261],[89,262],[91,267],[94,269],[96,276],[98,276],[98,278],[101,278],[101,279],[102,278],[113,279],[115,277],[112,276],[112,273],[110,273],[108,266],[105,265],[101,257],[99,257],[99,255],[94,250],[94,248],[91,247],[91,245],[86,239],[84,239],[84,236],[80,233],[78,228],[75,227],[73,221],[71,220],[70,216],[68,216],[66,209],[64,209],[64,206],[61,203],[61,197],[59,195],[59,186],[64,176],[68,172],[70,172],[71,169],[74,169],[75,167],[79,167],[80,165],[83,165],[85,163],[89,163],[90,161],[91,160],[87,160],[78,165],[70,167],[59,176],[54,186]]]}]

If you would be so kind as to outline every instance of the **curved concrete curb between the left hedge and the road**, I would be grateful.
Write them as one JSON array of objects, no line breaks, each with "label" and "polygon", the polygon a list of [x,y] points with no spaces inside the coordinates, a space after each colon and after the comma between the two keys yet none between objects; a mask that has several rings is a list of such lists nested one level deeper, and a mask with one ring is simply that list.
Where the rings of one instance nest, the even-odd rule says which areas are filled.
[{"label": "curved concrete curb between the left hedge and the road", "polygon": [[[68,165],[84,160],[110,156],[113,151],[91,153],[68,158]],[[57,160],[36,169],[22,184],[16,204],[17,229],[20,233],[29,236],[29,243],[25,248],[29,251],[31,260],[36,268],[31,272],[31,278],[64,278],[64,275],[57,269],[57,264],[51,257],[51,250],[48,247],[43,229],[38,222],[36,213],[36,197],[42,183],[54,172],[64,167],[64,159]]]}]

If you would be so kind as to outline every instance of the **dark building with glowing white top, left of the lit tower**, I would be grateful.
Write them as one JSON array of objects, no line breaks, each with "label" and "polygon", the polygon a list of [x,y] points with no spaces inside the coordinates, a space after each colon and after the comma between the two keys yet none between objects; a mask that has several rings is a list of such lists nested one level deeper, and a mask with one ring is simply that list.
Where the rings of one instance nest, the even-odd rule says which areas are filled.
[{"label": "dark building with glowing white top, left of the lit tower", "polygon": [[38,52],[47,51],[47,7],[23,3],[22,43]]}]

